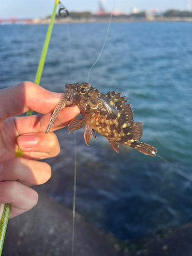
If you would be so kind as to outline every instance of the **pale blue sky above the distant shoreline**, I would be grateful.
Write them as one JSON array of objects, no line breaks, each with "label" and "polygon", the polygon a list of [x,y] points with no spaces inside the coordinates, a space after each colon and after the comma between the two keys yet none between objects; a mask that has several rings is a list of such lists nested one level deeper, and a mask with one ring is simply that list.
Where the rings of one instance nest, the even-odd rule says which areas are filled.
[{"label": "pale blue sky above the distant shoreline", "polygon": [[[190,1],[190,0],[188,0]],[[114,0],[102,0],[106,11],[112,11]],[[130,13],[133,8],[150,12],[151,9],[185,10],[187,0],[116,0],[115,9]],[[191,1],[192,2],[192,1]],[[61,0],[68,11],[91,11],[96,13],[99,0]],[[51,15],[55,0],[0,0],[0,18],[43,18]],[[190,3],[191,9],[192,3]]]}]

